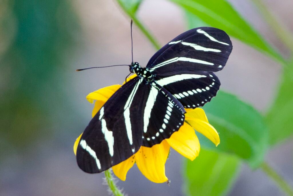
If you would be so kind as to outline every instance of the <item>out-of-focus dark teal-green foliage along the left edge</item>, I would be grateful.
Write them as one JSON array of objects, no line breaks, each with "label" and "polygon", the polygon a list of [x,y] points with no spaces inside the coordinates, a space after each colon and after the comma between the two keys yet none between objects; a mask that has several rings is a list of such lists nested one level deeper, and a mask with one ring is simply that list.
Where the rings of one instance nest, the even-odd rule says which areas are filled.
[{"label": "out-of-focus dark teal-green foliage along the left edge", "polygon": [[[11,34],[5,38],[13,38],[0,59],[7,76],[1,81],[0,110],[5,115],[0,116],[0,138],[6,141],[1,154],[8,148],[25,151],[33,143],[50,140],[52,127],[61,122],[56,118],[59,111],[67,107],[74,112],[68,100],[60,102],[66,91],[59,72],[78,46],[79,20],[67,0],[16,0],[0,5],[10,13],[7,21],[17,21],[13,31],[3,31]],[[0,22],[0,28],[6,26]],[[68,120],[70,115],[62,116]]]}]

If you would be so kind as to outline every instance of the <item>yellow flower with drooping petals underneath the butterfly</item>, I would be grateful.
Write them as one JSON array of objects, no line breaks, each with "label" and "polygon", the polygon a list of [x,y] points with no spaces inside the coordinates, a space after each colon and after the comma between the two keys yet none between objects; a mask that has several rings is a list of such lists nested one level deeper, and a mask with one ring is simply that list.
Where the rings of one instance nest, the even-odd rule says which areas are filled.
[{"label": "yellow flower with drooping petals underneath the butterfly", "polygon": [[[127,78],[127,81],[135,76],[130,76]],[[93,117],[120,87],[121,85],[108,86],[86,96],[90,103],[96,100],[92,112]],[[166,182],[168,178],[165,175],[165,163],[170,147],[190,160],[194,160],[198,156],[200,143],[194,130],[205,135],[205,137],[217,146],[220,143],[219,135],[215,128],[209,124],[204,110],[201,108],[185,110],[185,122],[177,132],[174,132],[169,139],[165,139],[160,144],[156,144],[151,148],[141,146],[137,153],[112,167],[114,174],[120,180],[124,181],[126,180],[128,170],[136,163],[139,170],[147,179],[156,183]],[[81,135],[74,143],[73,148],[75,154]]]}]

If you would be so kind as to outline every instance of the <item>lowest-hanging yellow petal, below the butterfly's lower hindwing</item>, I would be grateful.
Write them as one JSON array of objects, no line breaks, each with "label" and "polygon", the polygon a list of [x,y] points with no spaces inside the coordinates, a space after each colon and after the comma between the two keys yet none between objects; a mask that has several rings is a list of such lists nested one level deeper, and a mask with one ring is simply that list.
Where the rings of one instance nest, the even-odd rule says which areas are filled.
[{"label": "lowest-hanging yellow petal, below the butterfly's lower hindwing", "polygon": [[151,148],[142,146],[135,153],[137,167],[147,179],[156,183],[168,180],[165,175],[165,163],[168,158],[170,145],[163,140]]}]

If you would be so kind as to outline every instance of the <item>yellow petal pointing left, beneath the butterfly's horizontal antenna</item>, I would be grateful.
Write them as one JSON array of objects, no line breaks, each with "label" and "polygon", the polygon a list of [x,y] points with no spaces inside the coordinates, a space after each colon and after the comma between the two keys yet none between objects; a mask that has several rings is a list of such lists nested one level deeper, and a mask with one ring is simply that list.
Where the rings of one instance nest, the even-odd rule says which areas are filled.
[{"label": "yellow petal pointing left, beneath the butterfly's horizontal antenna", "polygon": [[100,88],[97,91],[89,93],[86,99],[93,103],[93,100],[103,101],[104,103],[121,87],[120,84]]}]

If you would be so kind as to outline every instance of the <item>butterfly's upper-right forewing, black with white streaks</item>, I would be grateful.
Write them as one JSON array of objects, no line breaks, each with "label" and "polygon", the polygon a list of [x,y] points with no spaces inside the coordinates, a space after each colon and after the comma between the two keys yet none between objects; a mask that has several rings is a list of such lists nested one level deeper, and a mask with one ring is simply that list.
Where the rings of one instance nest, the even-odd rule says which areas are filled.
[{"label": "butterfly's upper-right forewing, black with white streaks", "polygon": [[174,71],[220,71],[232,51],[229,36],[212,27],[186,31],[157,51],[147,64],[153,74]]}]

